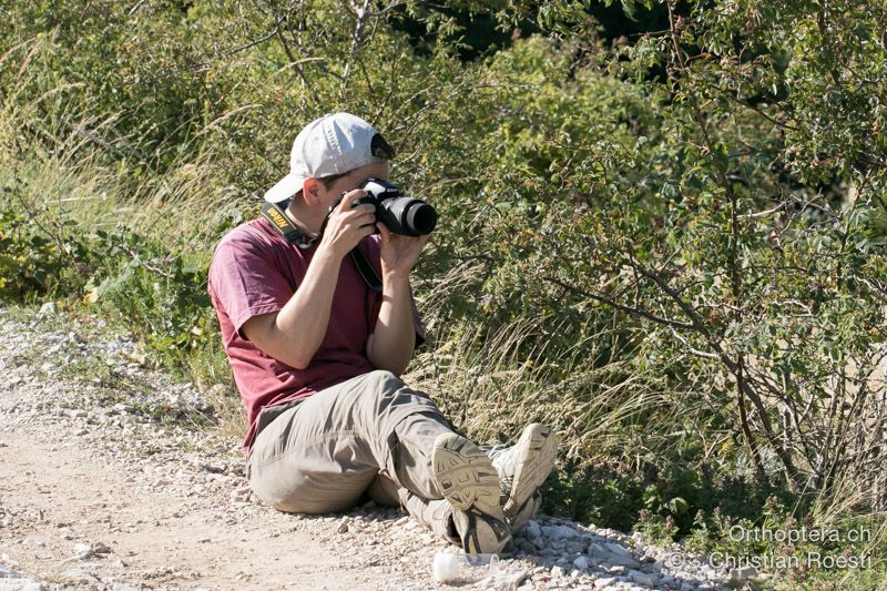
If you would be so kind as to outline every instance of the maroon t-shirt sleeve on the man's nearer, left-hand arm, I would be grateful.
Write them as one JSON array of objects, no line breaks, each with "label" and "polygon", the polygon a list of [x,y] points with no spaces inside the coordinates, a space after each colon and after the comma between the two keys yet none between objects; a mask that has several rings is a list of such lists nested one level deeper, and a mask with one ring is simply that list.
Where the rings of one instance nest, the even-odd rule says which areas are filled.
[{"label": "maroon t-shirt sleeve on the man's nearer, left-hand arm", "polygon": [[295,293],[266,245],[248,238],[223,241],[210,266],[210,282],[234,329],[253,316],[278,312]]}]

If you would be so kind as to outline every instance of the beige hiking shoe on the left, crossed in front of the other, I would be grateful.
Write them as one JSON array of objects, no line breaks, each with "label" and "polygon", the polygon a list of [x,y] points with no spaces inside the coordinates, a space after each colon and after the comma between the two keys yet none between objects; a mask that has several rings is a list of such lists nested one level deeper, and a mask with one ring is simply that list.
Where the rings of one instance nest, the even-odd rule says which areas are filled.
[{"label": "beige hiking shoe on the left, crossed in front of the other", "polygon": [[431,467],[438,490],[452,506],[452,520],[469,554],[498,553],[511,540],[499,503],[499,473],[490,458],[458,434],[435,440]]}]

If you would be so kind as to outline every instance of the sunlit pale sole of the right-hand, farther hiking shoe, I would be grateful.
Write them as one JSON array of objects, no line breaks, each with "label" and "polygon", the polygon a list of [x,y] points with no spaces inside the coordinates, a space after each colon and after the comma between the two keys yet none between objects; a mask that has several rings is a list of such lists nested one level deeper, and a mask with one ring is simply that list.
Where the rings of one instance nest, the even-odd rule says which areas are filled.
[{"label": "sunlit pale sole of the right-hand, farther hiking shoe", "polygon": [[528,425],[517,444],[514,479],[511,495],[504,503],[504,512],[514,517],[523,502],[542,486],[554,468],[558,457],[558,436],[541,422]]}]

